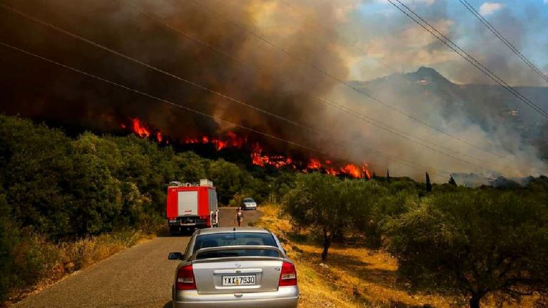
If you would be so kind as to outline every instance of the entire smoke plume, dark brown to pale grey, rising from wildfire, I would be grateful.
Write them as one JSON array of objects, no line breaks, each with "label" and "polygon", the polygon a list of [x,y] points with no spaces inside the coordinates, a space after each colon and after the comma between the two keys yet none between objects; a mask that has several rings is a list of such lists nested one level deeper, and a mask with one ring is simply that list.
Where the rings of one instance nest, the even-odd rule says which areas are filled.
[{"label": "entire smoke plume, dark brown to pale grey, rising from wildfire", "polygon": [[[357,51],[340,35],[341,29],[362,31],[362,24],[356,23],[354,28],[349,25],[355,18],[353,12],[363,1],[11,0],[4,3],[211,91],[0,8],[0,40],[5,43],[293,144],[155,101],[0,46],[2,111],[9,114],[103,131],[118,130],[121,122],[137,117],[181,141],[188,136],[238,131],[260,139],[267,148],[280,153],[321,155],[325,159],[333,155],[354,163],[369,163],[378,174],[390,168],[393,175],[421,178],[429,171],[437,174],[440,181],[448,178],[445,171],[523,176],[545,170],[536,148],[500,125],[501,118],[486,116],[487,120],[480,123],[471,118],[472,113],[458,108],[466,105],[462,100],[468,101],[469,97],[457,93],[459,86],[444,78],[428,81],[436,88],[420,88],[419,83],[410,81],[416,76],[392,76],[356,85],[458,138],[482,145],[496,153],[497,161],[492,154],[433,133],[424,125],[387,111],[385,106],[342,86],[336,79],[350,78],[351,71],[356,69]],[[432,6],[432,12],[442,14],[444,9]],[[436,22],[440,28],[450,29],[452,25],[448,19]],[[405,42],[419,30],[405,29],[400,36],[388,40],[360,37],[357,46],[373,56],[383,54],[386,60],[392,57],[398,62],[411,63],[410,66],[428,64],[432,54],[440,61],[452,61],[452,55],[430,39],[422,42],[421,46],[427,48],[417,53],[401,54],[390,47]],[[367,70],[367,66],[361,67]],[[377,71],[377,76],[379,73],[387,72]],[[448,83],[452,86],[447,86]],[[437,88],[444,84],[446,89]],[[436,95],[429,96],[432,92]],[[342,113],[322,103],[318,96],[430,140],[441,145],[442,148],[434,147],[437,150],[474,161],[474,165]],[[445,96],[450,104],[440,101],[438,96]],[[313,153],[310,148],[323,154]]]}]

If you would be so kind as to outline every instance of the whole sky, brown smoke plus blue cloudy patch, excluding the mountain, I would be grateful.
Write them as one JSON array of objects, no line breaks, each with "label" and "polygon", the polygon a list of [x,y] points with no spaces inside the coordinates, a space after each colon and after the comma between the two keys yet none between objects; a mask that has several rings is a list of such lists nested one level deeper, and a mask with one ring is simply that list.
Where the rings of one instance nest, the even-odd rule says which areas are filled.
[{"label": "whole sky, brown smoke plus blue cloudy patch, excluding the mountain", "polygon": [[[436,74],[428,70],[420,71],[425,74],[419,74],[422,79],[416,82],[409,76],[395,75],[378,86],[364,86],[364,91],[384,104],[343,84],[416,71],[420,66],[436,68],[453,83],[489,83],[385,0],[2,3],[165,73],[5,7],[0,7],[1,42],[293,143],[255,134],[271,150],[290,155],[329,153],[353,163],[369,163],[377,173],[390,168],[392,175],[422,178],[429,171],[438,181],[449,173],[488,175],[493,171],[524,176],[546,170],[537,148],[504,122],[504,115],[514,109],[519,115],[527,113],[511,97],[495,93],[493,100],[482,101],[480,96],[460,93],[463,88],[448,85],[442,77],[435,77],[440,88],[417,88],[433,82],[429,78]],[[405,3],[508,83],[546,86],[458,1]],[[541,0],[470,3],[548,73],[544,56],[548,51],[548,36],[544,35],[548,4]],[[407,88],[407,84],[415,87]],[[0,91],[1,111],[66,125],[111,131],[119,129],[121,121],[138,117],[180,140],[228,130],[254,135],[6,46],[0,46]],[[325,98],[397,133],[341,113],[322,103]],[[487,106],[465,111],[466,106],[474,106],[470,103],[474,100]],[[436,133],[410,117],[454,137]],[[534,128],[527,130],[542,125],[538,118],[531,121]],[[401,138],[402,133],[429,143],[417,145]],[[402,165],[400,160],[414,166]]]}]

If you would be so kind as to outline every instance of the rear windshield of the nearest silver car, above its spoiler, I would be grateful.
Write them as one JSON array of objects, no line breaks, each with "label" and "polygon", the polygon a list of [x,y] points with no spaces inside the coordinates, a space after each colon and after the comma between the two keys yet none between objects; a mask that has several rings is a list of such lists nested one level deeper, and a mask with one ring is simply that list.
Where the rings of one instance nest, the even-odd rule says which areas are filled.
[{"label": "rear windshield of the nearest silver car, above its spoiler", "polygon": [[198,235],[194,243],[193,252],[202,248],[238,246],[238,245],[265,245],[278,247],[274,237],[264,232],[230,232]]}]

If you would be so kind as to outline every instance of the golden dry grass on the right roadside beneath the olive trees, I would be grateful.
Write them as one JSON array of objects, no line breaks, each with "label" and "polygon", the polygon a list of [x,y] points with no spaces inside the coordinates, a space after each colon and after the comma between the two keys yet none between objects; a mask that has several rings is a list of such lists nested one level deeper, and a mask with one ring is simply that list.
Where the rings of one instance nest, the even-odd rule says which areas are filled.
[{"label": "golden dry grass on the right roadside beneath the olive trees", "polygon": [[[300,239],[279,207],[261,207],[257,226],[273,231],[298,271],[301,299],[299,307],[466,307],[465,298],[440,294],[410,293],[396,281],[397,262],[386,252],[357,246],[335,245],[328,260],[321,263],[321,247]],[[427,307],[427,306],[426,306]],[[521,303],[495,304],[492,298],[482,307],[532,307],[532,299]]]}]

